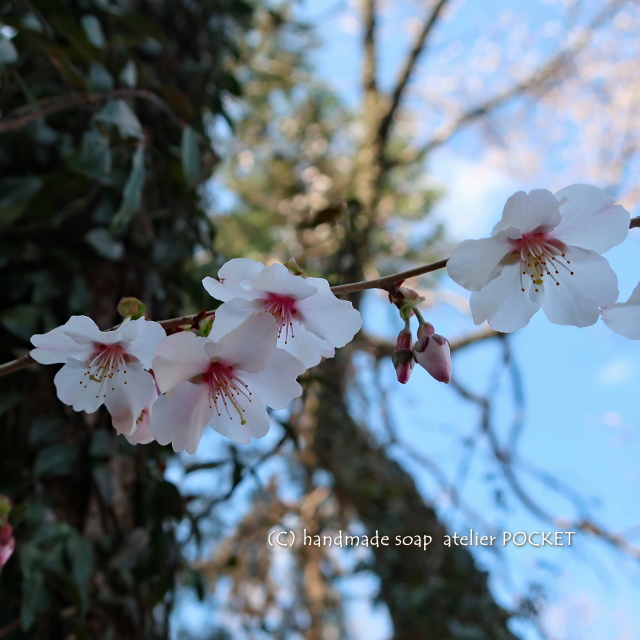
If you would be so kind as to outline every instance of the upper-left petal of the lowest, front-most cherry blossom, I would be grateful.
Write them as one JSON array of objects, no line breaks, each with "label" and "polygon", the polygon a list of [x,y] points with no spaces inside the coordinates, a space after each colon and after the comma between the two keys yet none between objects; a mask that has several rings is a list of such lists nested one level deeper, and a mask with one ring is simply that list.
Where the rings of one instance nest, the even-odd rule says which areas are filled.
[{"label": "upper-left petal of the lowest, front-most cherry blossom", "polygon": [[208,338],[181,331],[167,336],[158,345],[153,372],[160,391],[169,391],[209,368],[209,356],[204,349],[207,342]]}]

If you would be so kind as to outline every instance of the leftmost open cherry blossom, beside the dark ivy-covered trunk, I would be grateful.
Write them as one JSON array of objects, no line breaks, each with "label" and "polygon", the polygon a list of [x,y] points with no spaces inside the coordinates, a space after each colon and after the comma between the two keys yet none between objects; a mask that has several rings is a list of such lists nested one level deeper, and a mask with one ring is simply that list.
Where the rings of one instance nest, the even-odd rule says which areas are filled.
[{"label": "leftmost open cherry blossom, beside the dark ivy-covered trunk", "polygon": [[164,329],[144,318],[100,331],[91,318],[72,316],[61,327],[34,335],[31,357],[41,364],[64,363],[53,380],[62,402],[87,413],[104,404],[116,431],[132,435],[157,393],[145,369],[164,338]]}]

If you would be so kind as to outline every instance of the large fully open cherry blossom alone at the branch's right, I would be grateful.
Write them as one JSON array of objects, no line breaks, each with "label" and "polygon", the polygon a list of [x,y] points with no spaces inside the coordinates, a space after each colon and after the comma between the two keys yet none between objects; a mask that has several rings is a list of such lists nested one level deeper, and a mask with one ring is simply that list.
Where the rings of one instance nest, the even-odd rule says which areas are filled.
[{"label": "large fully open cherry blossom alone at the branch's right", "polygon": [[449,276],[473,293],[476,324],[524,327],[542,307],[555,324],[594,324],[618,297],[618,280],[600,254],[629,231],[629,212],[597,187],[574,184],[555,196],[519,191],[505,204],[490,238],[465,240],[447,263]]}]

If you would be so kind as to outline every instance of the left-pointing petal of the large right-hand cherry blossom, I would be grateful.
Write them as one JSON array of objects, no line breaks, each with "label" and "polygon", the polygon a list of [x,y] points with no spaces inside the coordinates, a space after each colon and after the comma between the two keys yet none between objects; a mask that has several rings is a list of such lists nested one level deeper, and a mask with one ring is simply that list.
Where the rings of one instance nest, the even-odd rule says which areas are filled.
[{"label": "left-pointing petal of the large right-hand cherry blossom", "polygon": [[469,291],[480,291],[497,278],[513,245],[501,234],[497,238],[464,240],[451,252],[447,262],[449,277]]}]

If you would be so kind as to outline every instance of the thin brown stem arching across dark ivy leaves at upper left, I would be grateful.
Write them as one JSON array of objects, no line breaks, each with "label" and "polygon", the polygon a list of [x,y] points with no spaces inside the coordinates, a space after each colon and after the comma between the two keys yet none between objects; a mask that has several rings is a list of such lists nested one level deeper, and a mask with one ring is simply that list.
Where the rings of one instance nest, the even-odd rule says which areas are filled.
[{"label": "thin brown stem arching across dark ivy leaves at upper left", "polygon": [[55,96],[53,98],[41,100],[40,104],[42,107],[37,111],[32,111],[31,107],[20,107],[19,109],[9,112],[4,118],[0,119],[0,135],[22,129],[22,127],[25,127],[34,120],[53,115],[54,113],[61,113],[78,107],[92,108],[96,104],[100,104],[108,100],[115,100],[117,98],[140,98],[142,100],[147,100],[169,115],[179,126],[184,126],[185,124],[184,121],[174,113],[171,107],[160,96],[156,95],[152,91],[148,91],[146,89],[122,88],[107,91],[105,93],[72,93],[64,96]]}]

